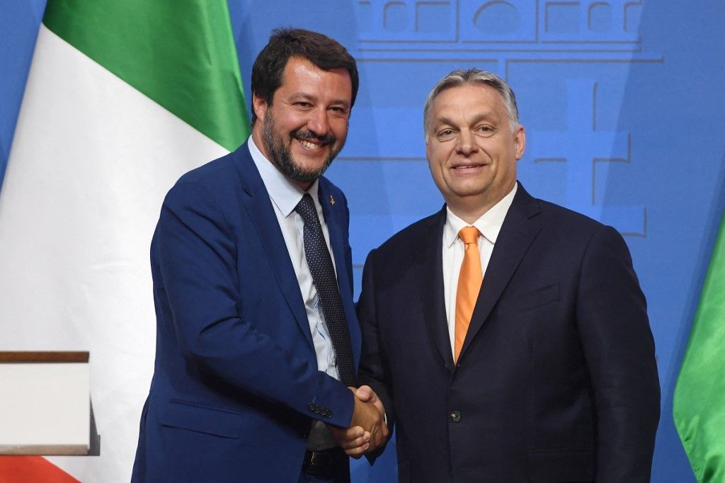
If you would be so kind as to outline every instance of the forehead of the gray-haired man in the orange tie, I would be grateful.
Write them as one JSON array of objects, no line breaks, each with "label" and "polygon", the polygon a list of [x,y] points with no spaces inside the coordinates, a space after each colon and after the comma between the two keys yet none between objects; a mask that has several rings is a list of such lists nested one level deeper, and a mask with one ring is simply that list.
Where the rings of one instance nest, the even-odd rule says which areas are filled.
[{"label": "forehead of the gray-haired man in the orange tie", "polygon": [[455,112],[490,112],[507,115],[503,97],[492,86],[468,83],[442,91],[431,106],[431,117],[448,116]]}]

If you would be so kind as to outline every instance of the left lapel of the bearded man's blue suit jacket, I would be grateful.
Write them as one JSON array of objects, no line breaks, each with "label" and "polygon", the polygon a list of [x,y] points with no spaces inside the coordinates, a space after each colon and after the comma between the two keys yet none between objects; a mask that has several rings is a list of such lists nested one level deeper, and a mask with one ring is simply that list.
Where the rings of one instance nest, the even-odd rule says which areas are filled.
[{"label": "left lapel of the bearded man's blue suit jacket", "polygon": [[297,276],[294,267],[289,260],[287,245],[284,242],[282,230],[279,227],[277,215],[274,212],[269,193],[262,183],[262,178],[257,167],[254,166],[252,156],[249,154],[247,143],[242,144],[232,154],[234,164],[239,171],[244,197],[242,203],[247,210],[247,215],[252,219],[254,229],[259,235],[262,249],[272,267],[277,284],[280,286],[289,310],[294,314],[300,331],[304,335],[312,350],[315,345],[312,343],[310,323],[305,313],[305,302],[299,292]]}]

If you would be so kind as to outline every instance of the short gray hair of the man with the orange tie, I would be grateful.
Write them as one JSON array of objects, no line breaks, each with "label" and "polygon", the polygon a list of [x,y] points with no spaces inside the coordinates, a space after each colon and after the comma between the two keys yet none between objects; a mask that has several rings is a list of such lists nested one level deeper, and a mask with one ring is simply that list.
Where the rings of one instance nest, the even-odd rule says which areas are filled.
[{"label": "short gray hair of the man with the orange tie", "polygon": [[423,107],[423,132],[426,133],[426,141],[428,140],[428,115],[430,114],[431,107],[433,106],[433,102],[436,100],[436,97],[438,97],[438,95],[446,89],[473,83],[485,84],[486,86],[491,86],[496,89],[498,93],[501,94],[503,105],[508,111],[511,129],[518,127],[518,107],[516,107],[516,96],[513,94],[513,91],[505,80],[494,73],[476,69],[476,67],[468,70],[457,69],[439,80],[434,88],[431,89],[431,93],[428,94],[426,105]]}]

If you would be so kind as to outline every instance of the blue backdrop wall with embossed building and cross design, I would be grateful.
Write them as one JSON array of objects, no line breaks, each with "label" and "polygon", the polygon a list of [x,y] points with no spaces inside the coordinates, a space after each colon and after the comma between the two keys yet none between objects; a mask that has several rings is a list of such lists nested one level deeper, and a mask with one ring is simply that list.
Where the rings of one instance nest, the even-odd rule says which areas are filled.
[{"label": "blue backdrop wall with embossed building and cross design", "polygon": [[[653,482],[694,482],[671,399],[725,207],[725,4],[229,3],[247,93],[252,61],[278,26],[333,36],[359,62],[349,139],[329,171],[349,199],[358,291],[368,251],[442,205],[423,145],[428,89],[457,67],[508,80],[529,136],[518,166],[526,189],[615,226],[629,244],[663,389]],[[44,4],[0,7],[0,176]],[[381,463],[373,472],[357,463],[357,482],[394,481],[394,455]]]}]

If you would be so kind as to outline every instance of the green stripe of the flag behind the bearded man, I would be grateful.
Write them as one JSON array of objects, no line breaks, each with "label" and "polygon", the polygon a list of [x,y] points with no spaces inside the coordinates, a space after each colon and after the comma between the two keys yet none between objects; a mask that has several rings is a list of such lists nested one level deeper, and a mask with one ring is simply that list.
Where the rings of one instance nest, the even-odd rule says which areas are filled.
[{"label": "green stripe of the flag behind the bearded man", "polygon": [[226,149],[248,136],[225,0],[49,0],[43,23]]}]

